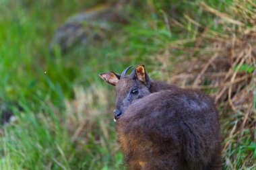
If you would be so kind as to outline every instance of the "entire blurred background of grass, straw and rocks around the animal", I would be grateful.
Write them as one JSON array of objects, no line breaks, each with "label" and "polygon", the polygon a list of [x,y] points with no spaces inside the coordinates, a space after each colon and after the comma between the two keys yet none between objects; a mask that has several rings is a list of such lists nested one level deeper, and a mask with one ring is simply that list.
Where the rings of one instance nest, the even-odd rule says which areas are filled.
[{"label": "entire blurred background of grass, straw and rocks around the animal", "polygon": [[0,0],[0,169],[126,169],[115,88],[153,79],[216,100],[223,169],[256,169],[255,0]]}]

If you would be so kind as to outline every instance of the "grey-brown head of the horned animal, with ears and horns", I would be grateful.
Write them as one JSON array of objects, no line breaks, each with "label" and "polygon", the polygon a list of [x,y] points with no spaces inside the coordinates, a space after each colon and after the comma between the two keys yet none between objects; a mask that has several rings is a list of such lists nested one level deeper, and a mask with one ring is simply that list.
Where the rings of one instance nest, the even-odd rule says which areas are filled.
[{"label": "grey-brown head of the horned animal, with ears and horns", "polygon": [[100,73],[100,77],[110,85],[116,87],[116,108],[114,110],[114,120],[117,121],[131,103],[150,94],[150,78],[146,73],[144,65],[137,65],[130,75],[126,75],[127,67],[121,75],[110,71]]}]

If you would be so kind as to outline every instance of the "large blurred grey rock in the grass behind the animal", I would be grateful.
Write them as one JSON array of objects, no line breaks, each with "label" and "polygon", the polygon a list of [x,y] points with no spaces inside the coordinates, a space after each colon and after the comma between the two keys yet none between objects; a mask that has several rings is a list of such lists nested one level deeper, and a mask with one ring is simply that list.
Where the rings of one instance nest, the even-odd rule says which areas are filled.
[{"label": "large blurred grey rock in the grass behind the animal", "polygon": [[55,32],[50,50],[53,52],[55,46],[59,46],[61,52],[67,52],[76,44],[86,45],[90,40],[105,38],[117,28],[115,23],[126,23],[125,17],[120,14],[122,6],[98,5],[69,17]]}]

